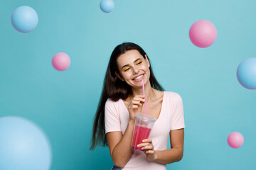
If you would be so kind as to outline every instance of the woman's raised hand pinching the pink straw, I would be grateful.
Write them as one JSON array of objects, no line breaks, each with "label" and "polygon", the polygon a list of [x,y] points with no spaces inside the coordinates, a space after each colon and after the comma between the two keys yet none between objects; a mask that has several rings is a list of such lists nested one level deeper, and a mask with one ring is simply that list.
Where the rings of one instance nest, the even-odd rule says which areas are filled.
[{"label": "woman's raised hand pinching the pink straw", "polygon": [[135,120],[136,113],[142,113],[142,106],[145,102],[144,95],[136,95],[128,103],[129,120]]}]

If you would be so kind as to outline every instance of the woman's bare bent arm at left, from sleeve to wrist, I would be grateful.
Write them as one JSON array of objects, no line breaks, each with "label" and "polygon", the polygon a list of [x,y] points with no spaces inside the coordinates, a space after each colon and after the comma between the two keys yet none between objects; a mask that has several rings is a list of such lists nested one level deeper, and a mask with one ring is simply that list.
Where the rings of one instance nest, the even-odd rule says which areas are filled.
[{"label": "woman's bare bent arm at left, from sleeve to wrist", "polygon": [[131,157],[133,128],[134,123],[129,121],[124,135],[122,135],[122,132],[107,133],[107,142],[110,148],[112,160],[114,165],[119,168],[124,168]]}]

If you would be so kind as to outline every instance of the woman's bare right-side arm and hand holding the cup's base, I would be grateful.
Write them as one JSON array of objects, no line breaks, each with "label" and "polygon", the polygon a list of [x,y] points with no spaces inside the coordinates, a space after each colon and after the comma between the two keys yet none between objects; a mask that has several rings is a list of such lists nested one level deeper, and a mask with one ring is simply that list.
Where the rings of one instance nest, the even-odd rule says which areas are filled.
[{"label": "woman's bare right-side arm and hand holding the cup's base", "polygon": [[171,130],[170,140],[171,149],[154,150],[151,139],[144,140],[144,143],[140,144],[139,147],[142,147],[149,161],[171,164],[180,161],[183,157],[184,130]]}]

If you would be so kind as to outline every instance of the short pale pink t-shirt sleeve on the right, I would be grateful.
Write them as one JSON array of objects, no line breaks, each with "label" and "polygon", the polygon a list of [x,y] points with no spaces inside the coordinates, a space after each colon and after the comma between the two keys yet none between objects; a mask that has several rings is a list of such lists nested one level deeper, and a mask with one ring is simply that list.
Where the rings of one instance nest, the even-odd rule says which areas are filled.
[{"label": "short pale pink t-shirt sleeve on the right", "polygon": [[174,102],[176,103],[176,106],[174,106],[174,113],[171,116],[171,130],[185,128],[183,101],[181,96],[177,94]]}]

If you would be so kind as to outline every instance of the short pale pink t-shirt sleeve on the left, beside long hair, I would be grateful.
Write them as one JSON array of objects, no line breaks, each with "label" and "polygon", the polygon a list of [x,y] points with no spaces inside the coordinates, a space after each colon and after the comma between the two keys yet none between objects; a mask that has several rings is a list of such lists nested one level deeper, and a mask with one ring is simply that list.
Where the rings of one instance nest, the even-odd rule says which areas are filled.
[{"label": "short pale pink t-shirt sleeve on the left, beside long hair", "polygon": [[105,133],[121,131],[121,121],[118,105],[110,98],[105,103]]}]

